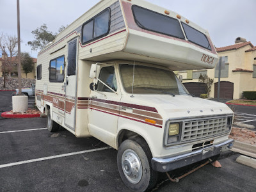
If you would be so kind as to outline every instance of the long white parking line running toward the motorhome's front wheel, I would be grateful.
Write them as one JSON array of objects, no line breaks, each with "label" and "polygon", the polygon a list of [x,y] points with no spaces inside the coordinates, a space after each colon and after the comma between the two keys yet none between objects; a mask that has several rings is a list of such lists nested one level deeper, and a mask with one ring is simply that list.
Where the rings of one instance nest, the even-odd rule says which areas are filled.
[{"label": "long white parking line running toward the motorhome's front wheel", "polygon": [[19,164],[33,163],[33,162],[38,162],[38,161],[45,161],[45,160],[49,160],[49,159],[56,159],[56,158],[60,158],[60,157],[86,154],[86,153],[95,152],[95,151],[99,151],[99,150],[106,150],[106,149],[109,149],[109,148],[112,148],[112,147],[94,148],[94,149],[89,149],[89,150],[82,150],[82,151],[78,151],[78,152],[72,152],[72,153],[68,153],[68,154],[61,154],[61,155],[57,155],[57,156],[49,156],[49,157],[42,157],[42,158],[38,158],[38,159],[30,159],[30,160],[26,160],[26,161],[18,161],[18,162],[15,162],[15,163],[0,164],[0,168],[15,166],[15,165],[19,165]]}]

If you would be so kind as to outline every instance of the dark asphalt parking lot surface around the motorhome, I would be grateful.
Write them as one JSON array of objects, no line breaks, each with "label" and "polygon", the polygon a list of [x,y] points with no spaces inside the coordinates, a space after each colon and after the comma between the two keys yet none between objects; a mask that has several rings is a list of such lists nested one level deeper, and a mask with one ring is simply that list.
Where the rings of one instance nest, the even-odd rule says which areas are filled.
[{"label": "dark asphalt parking lot surface around the motorhome", "polygon": [[[2,110],[10,104],[0,105]],[[45,122],[0,117],[0,191],[129,191],[118,173],[116,150],[95,138],[49,132]],[[220,157],[221,168],[208,164],[178,183],[161,173],[154,191],[255,191],[256,170],[236,163],[238,156],[226,152]]]}]

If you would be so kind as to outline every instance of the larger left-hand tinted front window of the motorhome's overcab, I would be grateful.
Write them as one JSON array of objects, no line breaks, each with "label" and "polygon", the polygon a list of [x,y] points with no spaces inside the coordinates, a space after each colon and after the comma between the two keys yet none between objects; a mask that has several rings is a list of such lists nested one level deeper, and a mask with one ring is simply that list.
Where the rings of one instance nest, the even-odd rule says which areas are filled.
[{"label": "larger left-hand tinted front window of the motorhome's overcab", "polygon": [[140,6],[132,6],[132,12],[135,22],[140,28],[163,33],[164,35],[184,38],[179,20],[141,8]]}]

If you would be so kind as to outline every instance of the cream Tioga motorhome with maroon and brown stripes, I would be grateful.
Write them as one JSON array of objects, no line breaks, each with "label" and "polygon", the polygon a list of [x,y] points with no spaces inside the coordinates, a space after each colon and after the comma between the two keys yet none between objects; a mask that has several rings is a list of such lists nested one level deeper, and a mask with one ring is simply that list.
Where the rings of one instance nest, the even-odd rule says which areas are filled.
[{"label": "cream Tioga motorhome with maroon and brown stripes", "polygon": [[158,172],[232,147],[232,110],[193,97],[173,73],[217,62],[191,20],[147,1],[102,0],[38,53],[36,106],[49,131],[61,125],[118,150],[120,177],[145,191]]}]

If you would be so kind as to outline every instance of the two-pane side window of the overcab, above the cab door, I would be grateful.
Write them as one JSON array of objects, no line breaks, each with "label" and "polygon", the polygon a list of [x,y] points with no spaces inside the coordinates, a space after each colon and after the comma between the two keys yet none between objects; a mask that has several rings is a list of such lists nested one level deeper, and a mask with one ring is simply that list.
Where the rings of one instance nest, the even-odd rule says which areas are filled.
[{"label": "two-pane side window of the overcab, above the cab door", "polygon": [[107,8],[103,12],[99,13],[93,17],[88,22],[84,23],[82,26],[82,42],[86,44],[100,38],[102,36],[108,35],[110,27],[110,9]]}]

